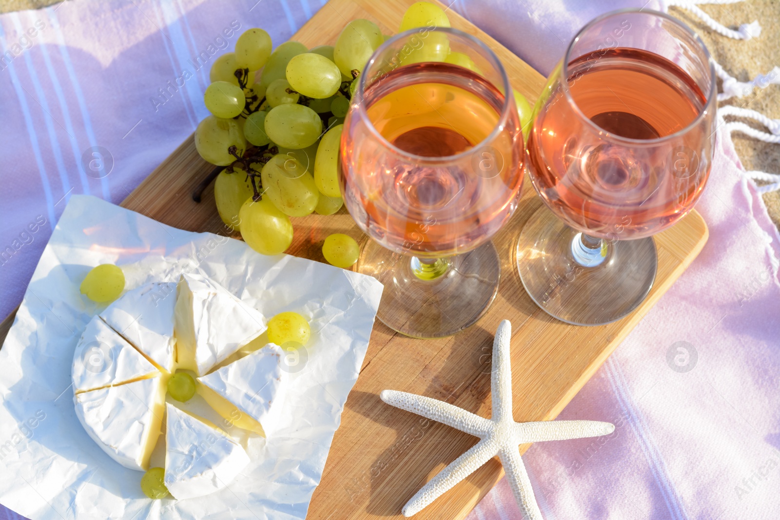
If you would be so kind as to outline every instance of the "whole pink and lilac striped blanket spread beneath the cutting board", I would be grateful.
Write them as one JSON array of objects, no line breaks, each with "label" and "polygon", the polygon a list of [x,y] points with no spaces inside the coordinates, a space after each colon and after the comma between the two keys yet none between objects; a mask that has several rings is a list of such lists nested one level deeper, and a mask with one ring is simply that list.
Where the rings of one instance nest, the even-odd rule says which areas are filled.
[{"label": "whole pink and lilac striped blanket spread beneath the cutting board", "polygon": [[[236,31],[264,27],[279,44],[321,5],[84,0],[0,16],[0,315],[20,302],[71,194],[118,203],[207,115],[207,69]],[[589,19],[643,6],[658,8],[456,0],[451,9],[546,74]],[[547,520],[777,518],[780,237],[742,172],[721,133],[697,207],[707,246],[560,416],[612,421],[615,433],[525,455]],[[18,518],[0,506],[0,520]],[[477,518],[519,518],[505,481]]]}]

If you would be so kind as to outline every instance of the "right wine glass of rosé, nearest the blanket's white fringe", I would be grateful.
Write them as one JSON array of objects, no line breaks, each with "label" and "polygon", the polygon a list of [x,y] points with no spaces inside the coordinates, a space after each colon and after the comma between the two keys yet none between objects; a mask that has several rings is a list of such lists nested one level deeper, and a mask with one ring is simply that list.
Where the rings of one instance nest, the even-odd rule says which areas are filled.
[{"label": "right wine glass of ros\u00e9, nearest the blanket's white fringe", "polygon": [[707,182],[715,104],[709,52],[672,16],[609,12],[574,37],[527,145],[545,206],[519,236],[517,267],[543,310],[597,325],[640,305],[658,264],[651,235]]}]

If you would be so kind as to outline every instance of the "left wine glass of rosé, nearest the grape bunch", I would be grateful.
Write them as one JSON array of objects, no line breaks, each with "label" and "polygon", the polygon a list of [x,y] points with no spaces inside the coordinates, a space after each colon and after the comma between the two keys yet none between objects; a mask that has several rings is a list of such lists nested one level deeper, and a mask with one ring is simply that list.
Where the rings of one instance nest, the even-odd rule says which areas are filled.
[{"label": "left wine glass of ros\u00e9, nearest the grape bunch", "polygon": [[519,116],[493,51],[449,27],[385,41],[360,75],[341,145],[344,203],[373,239],[357,268],[385,285],[378,318],[415,338],[474,324],[498,291],[491,236],[523,181]]}]

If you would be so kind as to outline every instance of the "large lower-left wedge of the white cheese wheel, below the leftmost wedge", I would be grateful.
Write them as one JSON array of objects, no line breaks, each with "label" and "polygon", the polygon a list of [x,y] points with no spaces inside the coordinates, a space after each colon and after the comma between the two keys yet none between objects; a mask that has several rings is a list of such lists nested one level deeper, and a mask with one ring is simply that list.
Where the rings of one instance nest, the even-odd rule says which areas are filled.
[{"label": "large lower-left wedge of the white cheese wheel, below the leftmost wedge", "polygon": [[168,377],[75,394],[76,416],[109,457],[129,469],[146,471],[165,414]]}]

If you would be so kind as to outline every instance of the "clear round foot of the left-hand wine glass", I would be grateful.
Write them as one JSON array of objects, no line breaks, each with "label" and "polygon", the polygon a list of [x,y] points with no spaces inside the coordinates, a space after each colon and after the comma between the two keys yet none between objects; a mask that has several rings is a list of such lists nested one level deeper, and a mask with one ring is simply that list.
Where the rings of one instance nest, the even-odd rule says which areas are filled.
[{"label": "clear round foot of the left-hand wine glass", "polygon": [[413,338],[441,338],[475,324],[498,293],[501,262],[492,242],[449,257],[449,269],[434,280],[413,272],[414,259],[368,242],[357,271],[377,278],[385,290],[377,317]]}]

